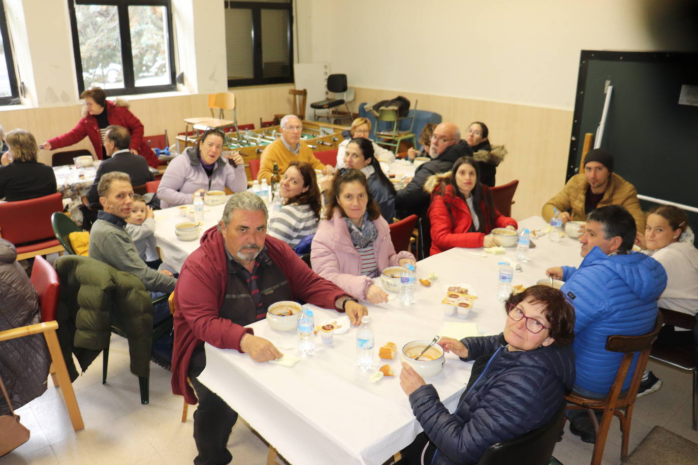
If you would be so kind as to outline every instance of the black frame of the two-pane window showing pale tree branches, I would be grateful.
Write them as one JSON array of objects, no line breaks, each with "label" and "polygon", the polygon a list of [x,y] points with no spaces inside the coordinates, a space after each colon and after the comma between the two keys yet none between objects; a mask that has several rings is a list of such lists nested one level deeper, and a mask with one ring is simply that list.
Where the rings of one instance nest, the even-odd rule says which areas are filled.
[{"label": "black frame of the two-pane window showing pale tree branches", "polygon": [[[121,70],[124,73],[124,87],[104,89],[107,96],[138,95],[140,93],[155,93],[176,91],[176,70],[174,69],[174,31],[172,29],[172,2],[170,0],[68,0],[70,12],[70,29],[73,33],[73,54],[75,55],[75,71],[77,73],[77,92],[80,95],[85,90],[82,77],[82,58],[80,56],[80,38],[77,33],[77,17],[75,5],[108,5],[116,6],[119,17],[119,37],[121,38]],[[133,52],[131,50],[131,28],[128,24],[129,6],[164,6],[168,25],[168,61],[170,62],[170,84],[160,86],[135,86],[133,73]]]}]

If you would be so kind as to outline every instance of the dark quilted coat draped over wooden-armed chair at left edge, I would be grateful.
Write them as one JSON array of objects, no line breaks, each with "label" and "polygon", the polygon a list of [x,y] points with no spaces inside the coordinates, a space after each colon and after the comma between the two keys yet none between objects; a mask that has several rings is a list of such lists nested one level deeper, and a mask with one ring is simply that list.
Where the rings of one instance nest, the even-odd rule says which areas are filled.
[{"label": "dark quilted coat draped over wooden-armed chair at left edge", "polygon": [[[27,273],[17,263],[15,246],[0,239],[0,331],[38,323],[39,303]],[[41,334],[0,342],[0,376],[13,409],[46,390],[51,358]],[[0,415],[10,412],[0,392]]]}]

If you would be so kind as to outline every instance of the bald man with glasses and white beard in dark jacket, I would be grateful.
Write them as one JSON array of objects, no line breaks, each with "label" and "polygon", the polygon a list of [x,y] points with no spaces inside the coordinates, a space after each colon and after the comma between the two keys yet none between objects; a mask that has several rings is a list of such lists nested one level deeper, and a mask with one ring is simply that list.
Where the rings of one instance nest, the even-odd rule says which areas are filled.
[{"label": "bald man with glasses and white beard in dark jacket", "polygon": [[395,209],[401,218],[408,215],[424,217],[429,208],[429,194],[424,192],[424,183],[429,176],[450,171],[459,158],[470,155],[473,151],[468,143],[461,141],[461,131],[454,123],[441,123],[431,135],[429,156],[431,161],[417,167],[415,176],[404,189],[397,191]]}]

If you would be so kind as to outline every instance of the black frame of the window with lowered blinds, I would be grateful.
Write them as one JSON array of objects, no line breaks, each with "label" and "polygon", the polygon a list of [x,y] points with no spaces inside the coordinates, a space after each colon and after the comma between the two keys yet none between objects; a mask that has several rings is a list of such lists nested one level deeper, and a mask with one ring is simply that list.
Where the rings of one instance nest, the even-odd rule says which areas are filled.
[{"label": "black frame of the window with lowered blinds", "polygon": [[[254,60],[254,77],[228,79],[228,87],[253,86],[263,84],[290,84],[294,82],[293,74],[293,0],[288,3],[267,3],[263,1],[224,1],[225,9],[252,10],[252,56]],[[288,10],[288,75],[262,77],[262,10]],[[257,32],[259,31],[259,33]],[[227,38],[226,38],[227,40]],[[228,57],[225,58],[226,75]],[[227,77],[227,76],[226,76]]]}]

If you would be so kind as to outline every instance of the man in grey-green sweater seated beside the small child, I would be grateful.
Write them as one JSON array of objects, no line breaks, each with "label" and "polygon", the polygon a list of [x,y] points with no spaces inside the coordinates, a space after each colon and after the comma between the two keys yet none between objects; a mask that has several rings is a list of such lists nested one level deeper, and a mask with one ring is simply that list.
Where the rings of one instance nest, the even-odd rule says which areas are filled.
[{"label": "man in grey-green sweater seated beside the small child", "polygon": [[138,256],[138,250],[126,232],[126,218],[131,215],[133,204],[131,177],[122,171],[107,173],[99,180],[97,191],[104,210],[98,213],[90,231],[89,256],[135,275],[148,291],[174,291],[177,280],[172,273],[149,268]]}]

